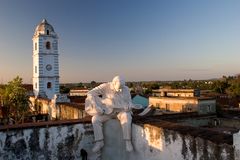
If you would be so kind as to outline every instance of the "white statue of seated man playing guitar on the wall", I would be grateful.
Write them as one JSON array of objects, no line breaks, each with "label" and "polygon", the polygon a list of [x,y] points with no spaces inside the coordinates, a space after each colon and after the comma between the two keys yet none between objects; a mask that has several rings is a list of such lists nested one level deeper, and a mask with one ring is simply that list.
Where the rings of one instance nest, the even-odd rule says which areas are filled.
[{"label": "white statue of seated man playing guitar on the wall", "polygon": [[131,110],[132,104],[129,88],[120,76],[113,78],[112,82],[103,83],[88,92],[85,101],[85,110],[92,115],[92,124],[95,137],[93,152],[98,152],[104,146],[103,123],[111,118],[120,121],[125,140],[126,150],[132,151],[131,142]]}]

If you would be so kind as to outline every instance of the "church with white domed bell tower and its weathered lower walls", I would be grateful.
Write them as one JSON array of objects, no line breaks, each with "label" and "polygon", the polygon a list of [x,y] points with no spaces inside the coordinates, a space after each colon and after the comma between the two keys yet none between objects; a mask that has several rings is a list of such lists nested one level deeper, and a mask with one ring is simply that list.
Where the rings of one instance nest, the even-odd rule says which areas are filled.
[{"label": "church with white domed bell tower and its weathered lower walls", "polygon": [[[85,117],[82,103],[71,103],[66,94],[59,93],[58,36],[46,19],[37,25],[32,40],[34,96],[29,94],[29,100],[33,110],[50,120]],[[29,89],[30,85],[25,87]]]}]

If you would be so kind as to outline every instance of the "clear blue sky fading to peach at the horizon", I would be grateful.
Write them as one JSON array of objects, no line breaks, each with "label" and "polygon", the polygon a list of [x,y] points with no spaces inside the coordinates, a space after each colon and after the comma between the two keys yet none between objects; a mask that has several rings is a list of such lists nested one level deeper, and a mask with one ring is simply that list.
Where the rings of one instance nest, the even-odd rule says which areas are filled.
[{"label": "clear blue sky fading to peach at the horizon", "polygon": [[240,73],[239,0],[1,0],[0,83],[32,80],[32,36],[59,35],[60,82]]}]

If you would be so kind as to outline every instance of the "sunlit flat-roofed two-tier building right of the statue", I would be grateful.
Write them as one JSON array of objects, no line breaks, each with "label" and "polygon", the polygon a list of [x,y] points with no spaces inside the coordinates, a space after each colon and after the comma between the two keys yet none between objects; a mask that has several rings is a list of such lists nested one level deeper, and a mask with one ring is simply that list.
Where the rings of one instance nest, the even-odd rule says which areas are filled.
[{"label": "sunlit flat-roofed two-tier building right of the statue", "polygon": [[153,91],[149,104],[169,112],[215,113],[216,100],[212,97],[201,97],[199,90],[194,89],[159,89]]}]

